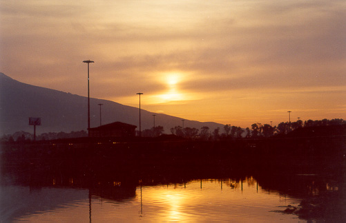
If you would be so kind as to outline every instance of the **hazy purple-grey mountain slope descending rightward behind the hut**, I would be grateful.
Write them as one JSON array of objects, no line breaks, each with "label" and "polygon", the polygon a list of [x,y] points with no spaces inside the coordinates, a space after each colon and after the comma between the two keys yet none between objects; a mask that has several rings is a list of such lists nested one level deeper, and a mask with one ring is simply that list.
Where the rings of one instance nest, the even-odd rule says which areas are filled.
[{"label": "hazy purple-grey mountain slope descending rightward behind the hut", "polygon": [[[139,126],[138,107],[115,103],[111,100],[90,98],[90,127],[99,126],[99,105],[102,105],[102,125],[116,121]],[[182,118],[141,110],[142,130],[155,125],[164,127],[165,133],[175,126],[182,126]],[[16,131],[33,131],[29,117],[41,118],[37,134],[44,132],[70,132],[88,127],[88,98],[76,94],[37,87],[16,81],[0,72],[0,135]],[[184,127],[200,129],[208,126],[213,130],[224,125],[185,120]]]}]

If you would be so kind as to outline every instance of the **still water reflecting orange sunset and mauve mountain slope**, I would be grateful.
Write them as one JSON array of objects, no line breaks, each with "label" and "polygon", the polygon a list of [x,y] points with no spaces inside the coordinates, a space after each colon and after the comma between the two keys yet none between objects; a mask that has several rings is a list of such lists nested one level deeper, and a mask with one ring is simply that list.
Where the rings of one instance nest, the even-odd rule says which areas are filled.
[{"label": "still water reflecting orange sunset and mauve mountain slope", "polygon": [[266,191],[253,178],[142,185],[124,198],[119,187],[96,195],[53,185],[1,186],[1,222],[306,222],[280,212],[299,199]]}]

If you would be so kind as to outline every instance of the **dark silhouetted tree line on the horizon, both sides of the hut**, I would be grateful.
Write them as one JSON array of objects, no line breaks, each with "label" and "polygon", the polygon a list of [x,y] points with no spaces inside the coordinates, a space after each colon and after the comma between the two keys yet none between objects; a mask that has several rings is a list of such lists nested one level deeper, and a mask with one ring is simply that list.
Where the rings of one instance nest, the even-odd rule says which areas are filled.
[{"label": "dark silhouetted tree line on the horizon, both sides of the hut", "polygon": [[[328,125],[346,125],[346,120],[341,118],[334,118],[331,120],[297,120],[296,122],[282,122],[278,126],[271,126],[269,124],[253,123],[250,127],[243,129],[238,126],[224,125],[223,129],[220,127],[216,129],[210,129],[207,126],[196,129],[195,127],[181,127],[176,126],[170,129],[171,134],[187,138],[190,140],[227,140],[236,138],[269,138],[273,136],[283,136],[289,134],[289,132],[294,131],[303,127],[318,127],[318,126],[328,126]],[[142,131],[143,137],[157,137],[164,134],[164,127],[157,126],[151,129],[144,129]],[[137,132],[137,135],[138,132]],[[49,132],[40,134],[36,137],[37,140],[55,140],[59,138],[79,138],[87,137],[88,133],[84,130],[82,131],[71,131],[70,133],[65,133],[63,131],[59,133]],[[0,142],[30,142],[33,139],[33,135],[26,131],[17,131],[15,134],[4,134],[0,138]]]}]

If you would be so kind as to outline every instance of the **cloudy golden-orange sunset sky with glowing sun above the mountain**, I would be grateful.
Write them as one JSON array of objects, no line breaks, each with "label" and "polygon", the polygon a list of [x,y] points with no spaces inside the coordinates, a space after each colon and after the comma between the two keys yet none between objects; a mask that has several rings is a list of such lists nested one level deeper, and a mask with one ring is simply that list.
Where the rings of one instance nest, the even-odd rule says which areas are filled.
[{"label": "cloudy golden-orange sunset sky with glowing sun above the mountain", "polygon": [[[345,0],[0,0],[17,81],[240,127],[346,119]],[[106,109],[106,108],[104,108]]]}]

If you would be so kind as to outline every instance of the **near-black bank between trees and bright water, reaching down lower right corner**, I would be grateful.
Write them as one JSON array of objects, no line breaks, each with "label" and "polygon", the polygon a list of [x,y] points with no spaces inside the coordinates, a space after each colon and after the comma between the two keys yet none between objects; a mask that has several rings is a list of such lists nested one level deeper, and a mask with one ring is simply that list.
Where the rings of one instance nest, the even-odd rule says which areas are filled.
[{"label": "near-black bank between trees and bright water, reaching down lower right corner", "polygon": [[[80,140],[80,139],[79,139]],[[94,140],[94,141],[93,141]],[[1,183],[89,189],[133,198],[139,185],[253,177],[267,191],[302,200],[278,207],[312,222],[345,222],[345,138],[271,140],[97,140],[1,145]]]}]

